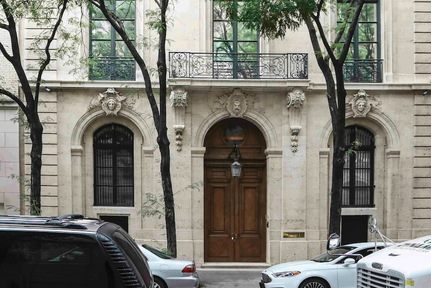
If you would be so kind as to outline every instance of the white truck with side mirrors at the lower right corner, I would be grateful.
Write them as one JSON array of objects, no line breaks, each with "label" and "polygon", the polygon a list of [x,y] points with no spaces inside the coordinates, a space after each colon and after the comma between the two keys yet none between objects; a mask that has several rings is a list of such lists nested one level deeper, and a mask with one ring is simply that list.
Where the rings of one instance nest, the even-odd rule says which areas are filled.
[{"label": "white truck with side mirrors at the lower right corner", "polygon": [[[390,241],[378,231],[375,219],[368,227],[375,239],[378,234],[383,242]],[[336,241],[329,238],[328,247]],[[356,265],[356,280],[356,288],[430,288],[431,235],[394,243],[361,258]]]}]

